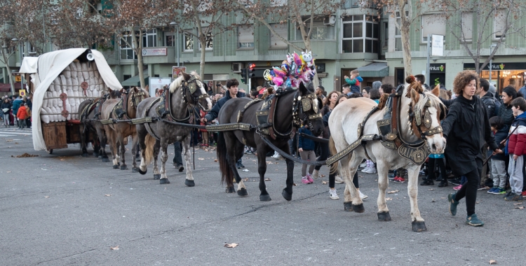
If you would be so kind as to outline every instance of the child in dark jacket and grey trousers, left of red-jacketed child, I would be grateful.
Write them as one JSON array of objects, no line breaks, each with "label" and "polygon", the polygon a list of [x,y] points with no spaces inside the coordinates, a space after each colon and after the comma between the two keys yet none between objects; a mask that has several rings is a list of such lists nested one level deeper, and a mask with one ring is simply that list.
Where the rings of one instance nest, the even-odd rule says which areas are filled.
[{"label": "child in dark jacket and grey trousers, left of red-jacketed child", "polygon": [[[492,132],[495,135],[495,143],[500,144],[506,137],[508,137],[508,125],[504,125],[504,121],[499,116],[490,118],[490,125]],[[506,190],[506,158],[504,153],[497,153],[492,157],[492,176],[493,188],[487,191],[490,194],[504,194]]]}]

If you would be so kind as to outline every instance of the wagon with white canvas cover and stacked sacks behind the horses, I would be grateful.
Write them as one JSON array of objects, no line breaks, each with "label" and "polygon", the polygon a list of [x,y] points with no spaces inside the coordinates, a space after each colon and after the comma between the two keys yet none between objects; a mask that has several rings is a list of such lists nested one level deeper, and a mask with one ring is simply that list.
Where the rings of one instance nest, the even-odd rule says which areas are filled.
[{"label": "wagon with white canvas cover and stacked sacks behind the horses", "polygon": [[[25,64],[26,62],[24,62]],[[28,61],[29,63],[29,61]],[[22,64],[33,83],[32,132],[35,151],[53,152],[81,141],[79,104],[122,86],[101,52],[72,48],[45,53]]]}]

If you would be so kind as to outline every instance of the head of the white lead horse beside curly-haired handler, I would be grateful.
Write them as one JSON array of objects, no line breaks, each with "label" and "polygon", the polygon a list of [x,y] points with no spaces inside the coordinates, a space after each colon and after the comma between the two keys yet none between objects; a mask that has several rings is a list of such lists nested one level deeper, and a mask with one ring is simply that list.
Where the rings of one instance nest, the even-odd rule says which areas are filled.
[{"label": "head of the white lead horse beside curly-haired handler", "polygon": [[431,153],[441,153],[445,148],[440,121],[445,118],[445,106],[438,99],[440,87],[431,92],[418,92],[410,87],[410,133],[427,141]]}]

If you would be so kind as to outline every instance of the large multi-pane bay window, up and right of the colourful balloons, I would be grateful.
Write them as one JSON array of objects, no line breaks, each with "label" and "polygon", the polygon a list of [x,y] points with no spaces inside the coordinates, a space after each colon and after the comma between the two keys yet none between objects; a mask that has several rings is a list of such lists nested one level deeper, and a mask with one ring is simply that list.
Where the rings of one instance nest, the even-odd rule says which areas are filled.
[{"label": "large multi-pane bay window, up and right of the colourful balloons", "polygon": [[371,16],[343,18],[342,52],[378,52],[379,25]]}]

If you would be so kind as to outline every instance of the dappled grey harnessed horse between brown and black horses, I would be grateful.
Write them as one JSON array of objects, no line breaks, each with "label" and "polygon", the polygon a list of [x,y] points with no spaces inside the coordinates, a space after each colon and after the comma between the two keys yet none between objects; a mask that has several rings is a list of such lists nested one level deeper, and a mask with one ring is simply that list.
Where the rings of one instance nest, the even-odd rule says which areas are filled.
[{"label": "dappled grey harnessed horse between brown and black horses", "polygon": [[[169,106],[169,109],[166,106]],[[170,122],[195,124],[195,119],[199,118],[198,115],[194,115],[195,106],[199,106],[203,111],[210,111],[212,101],[210,101],[198,76],[187,73],[182,73],[182,76],[173,80],[169,90],[164,92],[163,97],[145,99],[137,106],[137,118],[163,118],[166,116],[165,120],[152,120],[148,123],[136,125],[141,150],[140,174],[147,173],[147,166],[153,158],[154,179],[159,179],[161,184],[170,183],[168,176],[166,176],[168,144],[182,141],[184,160],[187,167],[187,177],[184,180],[184,184],[190,187],[195,186],[190,164],[190,143],[193,128],[170,124]],[[165,111],[158,113],[159,109],[164,109]],[[160,149],[163,151],[163,155],[161,155],[161,172],[157,168],[157,157]]]}]

